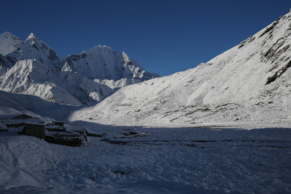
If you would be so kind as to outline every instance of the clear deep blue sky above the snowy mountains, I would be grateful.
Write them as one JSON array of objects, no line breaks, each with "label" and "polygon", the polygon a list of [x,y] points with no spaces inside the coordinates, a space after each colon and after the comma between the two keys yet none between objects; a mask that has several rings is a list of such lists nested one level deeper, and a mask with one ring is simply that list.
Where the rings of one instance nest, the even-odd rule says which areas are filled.
[{"label": "clear deep blue sky above the snowy mountains", "polygon": [[1,31],[30,32],[58,56],[96,45],[169,75],[207,62],[287,14],[291,0],[5,0]]}]

